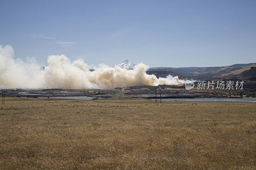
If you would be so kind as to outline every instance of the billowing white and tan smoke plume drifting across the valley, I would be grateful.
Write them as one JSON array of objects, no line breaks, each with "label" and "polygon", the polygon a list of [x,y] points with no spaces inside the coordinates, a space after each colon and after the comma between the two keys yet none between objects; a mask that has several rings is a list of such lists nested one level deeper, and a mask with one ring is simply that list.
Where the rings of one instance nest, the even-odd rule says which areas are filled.
[{"label": "billowing white and tan smoke plume drifting across the valley", "polygon": [[[156,78],[148,75],[148,67],[140,63],[133,70],[120,67],[109,67],[100,64],[89,70],[89,66],[82,59],[73,63],[65,55],[50,55],[47,58],[48,66],[44,70],[34,58],[27,61],[14,58],[12,46],[0,45],[0,86],[4,88],[111,88],[136,85],[180,85],[185,80],[167,76]],[[189,81],[189,80],[188,80]],[[190,81],[189,81],[190,82]]]}]

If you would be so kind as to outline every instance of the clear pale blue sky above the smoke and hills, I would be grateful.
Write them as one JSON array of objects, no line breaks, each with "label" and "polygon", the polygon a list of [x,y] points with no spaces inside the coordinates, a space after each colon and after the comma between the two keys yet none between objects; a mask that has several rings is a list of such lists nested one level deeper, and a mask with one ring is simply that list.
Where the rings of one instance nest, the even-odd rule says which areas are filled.
[{"label": "clear pale blue sky above the smoke and hills", "polygon": [[0,44],[42,65],[56,54],[109,66],[255,63],[256,1],[1,0]]}]

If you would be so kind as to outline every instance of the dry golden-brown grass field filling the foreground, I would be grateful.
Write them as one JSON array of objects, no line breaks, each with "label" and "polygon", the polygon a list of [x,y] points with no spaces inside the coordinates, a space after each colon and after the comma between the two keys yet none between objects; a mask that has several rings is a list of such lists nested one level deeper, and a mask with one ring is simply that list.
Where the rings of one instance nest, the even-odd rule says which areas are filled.
[{"label": "dry golden-brown grass field filling the foreground", "polygon": [[256,103],[7,98],[0,169],[256,169]]}]

